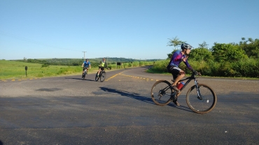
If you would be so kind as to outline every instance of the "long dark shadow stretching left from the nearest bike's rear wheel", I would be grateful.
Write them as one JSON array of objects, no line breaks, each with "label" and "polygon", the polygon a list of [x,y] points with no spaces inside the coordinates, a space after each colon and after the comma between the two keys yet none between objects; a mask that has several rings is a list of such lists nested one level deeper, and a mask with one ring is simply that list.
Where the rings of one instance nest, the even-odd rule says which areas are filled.
[{"label": "long dark shadow stretching left from the nearest bike's rear wheel", "polygon": [[153,105],[155,105],[155,103],[153,102],[153,100],[151,98],[148,97],[144,97],[144,96],[139,96],[139,93],[131,93],[128,91],[123,91],[123,90],[118,90],[118,89],[111,89],[111,88],[106,88],[106,87],[99,87],[100,89],[102,89],[102,91],[106,91],[106,92],[111,92],[111,93],[118,93],[121,96],[126,96],[129,98],[134,98],[136,100],[140,100],[142,102],[148,102],[151,103]]}]

